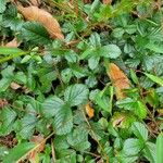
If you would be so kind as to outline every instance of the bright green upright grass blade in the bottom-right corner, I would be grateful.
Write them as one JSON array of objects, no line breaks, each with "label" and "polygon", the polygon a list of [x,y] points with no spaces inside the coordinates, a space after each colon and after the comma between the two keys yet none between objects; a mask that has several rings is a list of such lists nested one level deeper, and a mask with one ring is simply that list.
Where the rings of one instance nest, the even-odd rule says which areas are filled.
[{"label": "bright green upright grass blade in the bottom-right corner", "polygon": [[163,163],[163,133],[156,138],[156,163]]}]

